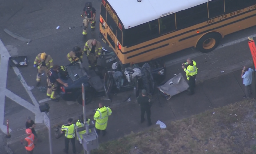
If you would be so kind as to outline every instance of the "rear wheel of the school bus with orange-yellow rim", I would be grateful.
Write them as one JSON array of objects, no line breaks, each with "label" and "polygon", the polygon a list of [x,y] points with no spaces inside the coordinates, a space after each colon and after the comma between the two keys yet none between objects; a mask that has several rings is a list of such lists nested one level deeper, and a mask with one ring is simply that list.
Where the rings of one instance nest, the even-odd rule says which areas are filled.
[{"label": "rear wheel of the school bus with orange-yellow rim", "polygon": [[219,33],[208,33],[201,37],[201,39],[197,42],[196,48],[202,53],[211,52],[218,47],[221,38],[221,34]]}]

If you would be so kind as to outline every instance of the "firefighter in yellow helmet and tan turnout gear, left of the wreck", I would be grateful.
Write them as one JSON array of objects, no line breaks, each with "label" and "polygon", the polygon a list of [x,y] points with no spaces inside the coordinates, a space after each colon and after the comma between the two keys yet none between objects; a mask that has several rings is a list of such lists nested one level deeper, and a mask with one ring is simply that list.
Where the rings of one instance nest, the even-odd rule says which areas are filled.
[{"label": "firefighter in yellow helmet and tan turnout gear, left of the wreck", "polygon": [[45,75],[48,76],[50,68],[53,67],[53,59],[50,55],[47,55],[45,52],[39,53],[34,61],[34,67],[37,67],[38,73],[36,76],[37,86],[40,84],[41,76],[43,71]]}]

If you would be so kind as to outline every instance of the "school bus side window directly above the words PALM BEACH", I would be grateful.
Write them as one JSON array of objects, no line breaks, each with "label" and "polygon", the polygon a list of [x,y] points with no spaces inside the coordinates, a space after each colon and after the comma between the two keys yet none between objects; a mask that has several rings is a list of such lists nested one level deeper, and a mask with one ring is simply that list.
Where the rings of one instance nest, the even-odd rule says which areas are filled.
[{"label": "school bus side window directly above the words PALM BEACH", "polygon": [[209,18],[214,18],[223,15],[224,12],[224,0],[213,0],[208,2]]}]

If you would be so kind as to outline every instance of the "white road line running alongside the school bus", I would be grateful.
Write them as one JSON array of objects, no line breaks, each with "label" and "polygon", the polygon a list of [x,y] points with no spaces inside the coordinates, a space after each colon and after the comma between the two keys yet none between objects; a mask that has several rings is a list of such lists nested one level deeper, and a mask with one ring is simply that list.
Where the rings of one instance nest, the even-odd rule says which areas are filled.
[{"label": "white road line running alongside the school bus", "polygon": [[[256,37],[256,34],[250,35],[248,37],[250,37],[250,38]],[[228,42],[228,43],[221,44],[215,50],[218,50],[218,49],[223,48],[223,47],[228,47],[228,46],[243,42],[245,40],[248,40],[248,37],[244,37],[244,38],[241,38],[241,39],[238,39],[238,40],[234,40],[234,41],[231,41],[231,42]],[[215,50],[213,50],[212,52],[214,52]],[[172,66],[172,65],[175,65],[175,64],[178,64],[178,63],[182,63],[182,62],[185,62],[187,58],[194,58],[194,57],[198,57],[198,56],[203,55],[203,54],[204,53],[201,53],[201,52],[195,52],[195,53],[190,54],[190,55],[186,55],[186,56],[174,59],[174,60],[167,61],[167,62],[165,62],[165,66],[169,67],[169,66]]]}]

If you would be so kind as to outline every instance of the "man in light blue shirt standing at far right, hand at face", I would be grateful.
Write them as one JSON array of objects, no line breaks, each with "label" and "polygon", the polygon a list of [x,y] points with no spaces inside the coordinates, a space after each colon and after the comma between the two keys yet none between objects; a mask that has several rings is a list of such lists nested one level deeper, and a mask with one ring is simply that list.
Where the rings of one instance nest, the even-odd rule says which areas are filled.
[{"label": "man in light blue shirt standing at far right, hand at face", "polygon": [[243,78],[243,84],[245,85],[245,96],[243,96],[244,98],[249,98],[252,94],[252,73],[253,69],[249,68],[248,66],[244,66],[241,74],[241,77]]}]

